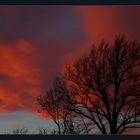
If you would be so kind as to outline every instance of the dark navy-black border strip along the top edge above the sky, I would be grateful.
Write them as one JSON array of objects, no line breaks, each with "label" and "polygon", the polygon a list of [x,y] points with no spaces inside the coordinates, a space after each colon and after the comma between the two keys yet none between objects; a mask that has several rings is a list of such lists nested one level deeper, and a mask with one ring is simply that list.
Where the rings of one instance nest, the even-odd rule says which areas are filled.
[{"label": "dark navy-black border strip along the top edge above the sky", "polygon": [[0,5],[138,5],[140,0],[0,0]]}]

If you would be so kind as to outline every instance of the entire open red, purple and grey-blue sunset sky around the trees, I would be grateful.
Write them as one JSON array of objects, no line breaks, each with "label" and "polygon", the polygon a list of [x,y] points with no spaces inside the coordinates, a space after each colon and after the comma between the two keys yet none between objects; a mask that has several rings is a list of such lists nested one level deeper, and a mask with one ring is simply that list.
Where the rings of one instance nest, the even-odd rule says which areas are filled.
[{"label": "entire open red, purple and grey-blue sunset sky around the trees", "polygon": [[119,33],[140,42],[140,6],[0,6],[0,133],[54,128],[36,98],[71,60]]}]

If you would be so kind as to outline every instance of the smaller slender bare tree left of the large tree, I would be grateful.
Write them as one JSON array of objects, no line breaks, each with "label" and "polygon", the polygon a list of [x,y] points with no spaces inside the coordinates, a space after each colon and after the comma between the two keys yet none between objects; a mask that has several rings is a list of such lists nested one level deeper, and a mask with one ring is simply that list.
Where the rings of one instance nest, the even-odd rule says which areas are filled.
[{"label": "smaller slender bare tree left of the large tree", "polygon": [[58,132],[58,134],[66,134],[68,131],[74,133],[72,129],[70,130],[72,128],[71,111],[65,110],[63,107],[63,96],[68,95],[68,89],[65,84],[61,77],[57,77],[52,88],[37,99],[41,109],[48,113],[57,125],[58,131],[55,131],[55,133]]}]

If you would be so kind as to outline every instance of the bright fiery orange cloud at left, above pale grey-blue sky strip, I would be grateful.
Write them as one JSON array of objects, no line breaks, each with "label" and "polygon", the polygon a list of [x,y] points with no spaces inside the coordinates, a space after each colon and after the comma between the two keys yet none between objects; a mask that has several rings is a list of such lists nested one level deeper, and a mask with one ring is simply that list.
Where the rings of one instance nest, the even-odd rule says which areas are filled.
[{"label": "bright fiery orange cloud at left, above pale grey-blue sky strip", "polygon": [[35,98],[41,94],[41,70],[32,60],[37,53],[26,40],[0,44],[0,112],[32,110]]}]

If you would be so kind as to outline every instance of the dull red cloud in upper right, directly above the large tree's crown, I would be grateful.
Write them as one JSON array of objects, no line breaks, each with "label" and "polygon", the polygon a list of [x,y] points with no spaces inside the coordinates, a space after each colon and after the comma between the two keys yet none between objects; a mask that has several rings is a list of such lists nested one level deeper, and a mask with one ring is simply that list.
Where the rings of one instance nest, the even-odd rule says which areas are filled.
[{"label": "dull red cloud in upper right, directly above the large tree's crown", "polygon": [[139,6],[79,6],[75,10],[81,17],[87,43],[112,41],[118,33],[139,39]]}]

